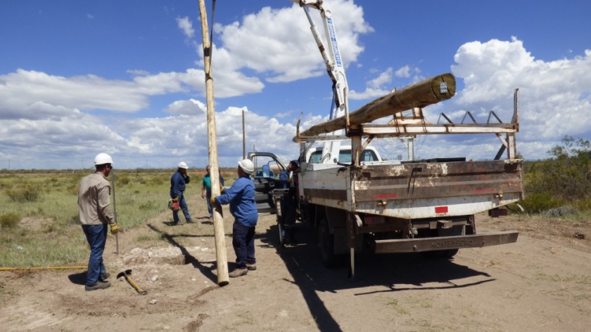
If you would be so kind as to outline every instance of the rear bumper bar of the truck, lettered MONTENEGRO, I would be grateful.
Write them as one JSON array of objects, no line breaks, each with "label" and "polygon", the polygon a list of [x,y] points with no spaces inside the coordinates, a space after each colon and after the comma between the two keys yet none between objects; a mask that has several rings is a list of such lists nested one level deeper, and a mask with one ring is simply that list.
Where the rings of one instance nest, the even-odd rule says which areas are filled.
[{"label": "rear bumper bar of the truck, lettered MONTENEGRO", "polygon": [[414,253],[461,248],[498,246],[517,241],[519,232],[497,232],[457,237],[428,237],[421,239],[376,240],[375,253]]}]

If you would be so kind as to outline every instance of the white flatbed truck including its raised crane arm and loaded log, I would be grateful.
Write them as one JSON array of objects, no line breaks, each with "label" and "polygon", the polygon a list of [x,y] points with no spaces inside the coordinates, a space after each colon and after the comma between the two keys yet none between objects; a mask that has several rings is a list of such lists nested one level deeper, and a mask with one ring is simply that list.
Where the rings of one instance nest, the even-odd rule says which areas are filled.
[{"label": "white flatbed truck including its raised crane arm and loaded log", "polygon": [[[350,91],[332,12],[322,0],[291,1],[303,8],[310,22],[333,86],[329,121],[300,132],[300,116],[293,138],[300,145],[300,168],[292,177],[297,179],[292,185],[296,187],[299,218],[317,230],[324,265],[339,265],[348,254],[350,277],[355,279],[355,253],[364,250],[451,258],[460,248],[517,241],[519,233],[513,231],[478,234],[474,215],[483,211],[504,215],[507,210],[502,206],[524,197],[523,161],[516,152],[515,139],[519,90],[514,91],[514,114],[509,123],[500,121],[493,111],[485,124],[478,124],[469,111],[464,115],[464,119],[471,119],[469,124],[464,124],[464,119],[455,124],[443,113],[439,119],[443,123],[427,121],[423,107],[455,95],[456,81],[451,73],[394,90],[350,112]],[[319,11],[326,44],[310,9]],[[392,117],[388,124],[374,124],[386,117]],[[501,147],[492,160],[456,156],[415,160],[412,142],[418,135],[457,134],[494,134]],[[365,152],[369,144],[381,138],[406,140],[408,160],[368,161]],[[350,145],[350,154],[341,149],[343,142]],[[319,143],[322,152],[314,147]],[[501,159],[503,154],[505,159]],[[270,152],[250,153],[248,158],[255,166],[274,167],[274,173],[286,169]],[[259,211],[277,213],[281,226],[281,208],[276,201],[285,193],[276,189],[278,179],[253,181]],[[278,237],[281,241],[281,232]]]}]

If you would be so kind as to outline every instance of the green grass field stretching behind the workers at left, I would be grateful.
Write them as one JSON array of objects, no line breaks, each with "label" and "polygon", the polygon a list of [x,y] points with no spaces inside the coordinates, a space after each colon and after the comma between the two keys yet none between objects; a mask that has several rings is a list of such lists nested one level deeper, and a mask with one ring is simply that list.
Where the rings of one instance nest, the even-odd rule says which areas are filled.
[{"label": "green grass field stretching behind the workers at left", "polygon": [[[171,170],[116,170],[120,230],[167,210]],[[0,267],[86,265],[88,244],[77,225],[77,195],[84,171],[0,173]],[[201,193],[203,171],[190,172],[188,195]],[[222,170],[226,179],[234,170]],[[111,179],[110,179],[111,180]],[[111,194],[113,204],[113,192]]]}]

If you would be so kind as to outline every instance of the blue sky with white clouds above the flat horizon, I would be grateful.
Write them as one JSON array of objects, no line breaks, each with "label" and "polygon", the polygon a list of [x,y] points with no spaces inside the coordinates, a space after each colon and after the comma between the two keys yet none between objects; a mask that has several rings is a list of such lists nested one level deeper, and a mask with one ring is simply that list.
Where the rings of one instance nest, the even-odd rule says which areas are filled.
[{"label": "blue sky with white clouds above the flat horizon", "polygon": [[[329,119],[332,82],[298,4],[205,0],[212,30],[221,167],[246,150],[298,157],[301,130]],[[456,95],[424,109],[459,123],[494,110],[503,122],[519,88],[517,151],[546,159],[565,135],[591,140],[591,1],[325,0],[345,63],[350,112],[451,72]],[[322,29],[316,11],[312,18]],[[208,164],[197,0],[0,1],[0,169]],[[393,138],[372,143],[404,159]],[[492,159],[500,140],[430,135],[416,158]]]}]

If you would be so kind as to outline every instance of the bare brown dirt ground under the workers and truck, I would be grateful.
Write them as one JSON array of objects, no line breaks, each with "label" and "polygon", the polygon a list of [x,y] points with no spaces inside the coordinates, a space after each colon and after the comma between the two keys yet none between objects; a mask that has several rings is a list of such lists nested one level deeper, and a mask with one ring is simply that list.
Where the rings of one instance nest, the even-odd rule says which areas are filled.
[{"label": "bare brown dirt ground under the workers and truck", "polygon": [[[305,228],[300,245],[278,251],[274,215],[267,215],[257,227],[258,270],[219,287],[205,201],[193,197],[189,208],[198,223],[170,227],[163,213],[120,234],[120,255],[109,237],[104,258],[113,286],[106,290],[84,291],[84,270],[0,272],[0,329],[590,331],[589,222],[477,215],[479,233],[519,230],[518,241],[462,249],[452,260],[360,255],[353,282],[348,267],[319,263]],[[224,215],[229,234],[227,208]],[[170,245],[139,240],[155,237]],[[231,271],[231,237],[226,246]],[[115,279],[127,269],[146,296]]]}]

